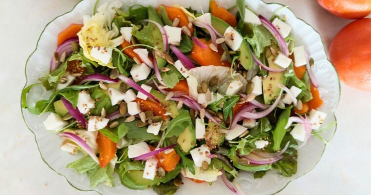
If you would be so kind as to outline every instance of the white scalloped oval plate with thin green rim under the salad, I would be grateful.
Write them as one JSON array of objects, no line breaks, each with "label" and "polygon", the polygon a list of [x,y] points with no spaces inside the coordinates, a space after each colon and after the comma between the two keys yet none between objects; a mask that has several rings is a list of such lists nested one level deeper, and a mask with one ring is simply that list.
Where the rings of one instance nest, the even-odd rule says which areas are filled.
[{"label": "white scalloped oval plate with thin green rim under the salad", "polygon": [[[108,0],[100,0],[103,4]],[[208,0],[122,0],[124,6],[128,7],[134,4],[152,5],[159,4],[181,4],[184,7],[192,6],[193,9],[201,11],[200,6],[204,10],[208,10]],[[92,15],[95,0],[83,0],[79,2],[70,12],[57,17],[49,22],[41,33],[36,50],[31,54],[26,62],[25,73],[27,77],[26,86],[36,83],[42,73],[49,70],[50,59],[56,49],[57,36],[59,32],[69,26],[71,23],[82,23],[83,15]],[[235,4],[235,0],[219,0],[218,3],[224,7],[230,7]],[[247,6],[255,10],[258,14],[270,18],[275,10],[283,7],[281,4],[270,3],[266,4],[261,0],[247,0]],[[330,61],[323,46],[320,35],[308,23],[298,19],[289,8],[282,9],[279,12],[280,16],[286,16],[287,22],[292,26],[293,37],[296,40],[296,45],[304,45],[310,57],[314,59],[314,75],[319,82],[319,91],[321,98],[324,99],[324,104],[319,110],[328,114],[328,117],[323,124],[323,127],[336,121],[334,110],[340,98],[339,79],[336,71]],[[28,94],[29,104],[35,103],[40,98],[47,97],[50,93],[45,92],[42,87],[34,87]],[[32,98],[31,98],[32,97]],[[36,98],[35,98],[36,97]],[[32,100],[30,100],[32,99]],[[130,190],[121,185],[117,178],[116,187],[108,187],[99,185],[96,189],[89,186],[89,179],[86,175],[80,175],[72,169],[67,169],[66,165],[81,156],[72,156],[66,152],[62,152],[59,148],[62,139],[52,132],[46,131],[42,121],[45,116],[38,117],[22,110],[24,121],[28,128],[34,133],[40,154],[44,162],[53,169],[56,173],[64,176],[67,181],[76,189],[82,191],[96,191],[103,195],[152,195],[155,194],[149,190]],[[334,135],[336,126],[332,129],[321,133],[321,136],[330,140]],[[326,145],[316,137],[311,137],[308,144],[299,150],[298,155],[298,171],[292,177],[283,177],[278,175],[274,170],[271,170],[262,179],[254,179],[251,173],[241,172],[237,178],[243,191],[249,195],[269,195],[275,194],[285,188],[290,181],[305,175],[314,168],[320,160]],[[221,179],[214,182],[212,186],[208,183],[196,184],[189,179],[184,179],[177,195],[205,195],[205,194],[232,194],[223,184]]]}]

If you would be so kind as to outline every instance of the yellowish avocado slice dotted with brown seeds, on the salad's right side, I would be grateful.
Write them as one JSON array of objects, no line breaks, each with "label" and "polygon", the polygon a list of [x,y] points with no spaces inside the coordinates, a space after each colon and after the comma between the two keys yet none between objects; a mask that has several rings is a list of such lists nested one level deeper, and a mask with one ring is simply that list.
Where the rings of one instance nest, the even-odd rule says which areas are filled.
[{"label": "yellowish avocado slice dotted with brown seeds, on the salad's right side", "polygon": [[[274,56],[270,56],[267,58],[269,68],[281,68],[278,65],[274,64]],[[264,103],[270,104],[272,100],[274,100],[278,94],[280,93],[281,89],[277,86],[278,84],[285,84],[285,72],[282,73],[273,73],[269,72],[268,76],[263,80],[263,96],[264,96]]]}]

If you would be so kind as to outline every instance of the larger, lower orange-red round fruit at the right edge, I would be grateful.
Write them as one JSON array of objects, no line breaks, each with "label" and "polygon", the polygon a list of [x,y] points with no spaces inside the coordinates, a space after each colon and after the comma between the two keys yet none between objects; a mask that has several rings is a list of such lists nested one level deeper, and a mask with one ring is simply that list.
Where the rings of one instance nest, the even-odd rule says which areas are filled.
[{"label": "larger, lower orange-red round fruit at the right edge", "polygon": [[371,19],[345,26],[332,40],[329,55],[343,82],[371,91]]}]

